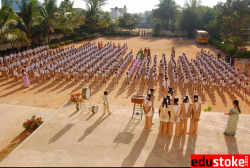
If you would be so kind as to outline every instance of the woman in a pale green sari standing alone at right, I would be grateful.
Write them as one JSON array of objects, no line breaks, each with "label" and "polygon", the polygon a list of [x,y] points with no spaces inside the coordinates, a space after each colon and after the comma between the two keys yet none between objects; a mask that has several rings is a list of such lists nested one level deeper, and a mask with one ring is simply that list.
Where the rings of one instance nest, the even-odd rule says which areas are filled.
[{"label": "woman in a pale green sari standing alone at right", "polygon": [[241,114],[239,101],[234,100],[233,107],[230,109],[229,113],[224,113],[224,115],[229,115],[229,119],[228,119],[227,126],[226,126],[226,129],[225,129],[223,134],[225,134],[227,136],[230,136],[230,135],[235,136],[236,135],[239,114]]}]

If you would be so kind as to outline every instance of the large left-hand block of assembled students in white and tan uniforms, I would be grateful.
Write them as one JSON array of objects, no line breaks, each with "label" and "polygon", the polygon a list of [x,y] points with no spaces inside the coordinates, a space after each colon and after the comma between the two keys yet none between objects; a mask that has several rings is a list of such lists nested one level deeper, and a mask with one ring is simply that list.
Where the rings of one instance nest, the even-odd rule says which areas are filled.
[{"label": "large left-hand block of assembled students in white and tan uniforms", "polygon": [[67,83],[74,80],[77,83],[79,80],[88,82],[94,77],[94,82],[102,80],[106,83],[114,72],[116,77],[121,77],[127,64],[132,61],[132,52],[123,58],[126,50],[127,44],[118,49],[111,42],[104,46],[102,43],[97,46],[89,42],[78,48],[73,45],[55,51],[44,45],[0,57],[0,71],[6,80],[14,77],[18,81],[22,74],[25,87],[29,87],[31,79],[36,82],[65,80]]}]

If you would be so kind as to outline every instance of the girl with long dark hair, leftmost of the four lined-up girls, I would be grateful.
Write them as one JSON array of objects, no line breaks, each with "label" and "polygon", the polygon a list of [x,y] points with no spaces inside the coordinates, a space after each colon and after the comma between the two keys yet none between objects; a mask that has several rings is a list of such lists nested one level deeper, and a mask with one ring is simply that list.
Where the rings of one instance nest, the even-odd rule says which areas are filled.
[{"label": "girl with long dark hair, leftmost of the four lined-up girls", "polygon": [[160,127],[159,127],[159,134],[167,134],[168,131],[168,122],[169,122],[169,115],[168,111],[170,106],[168,105],[167,98],[164,98],[162,104],[159,106],[159,117],[160,117]]}]

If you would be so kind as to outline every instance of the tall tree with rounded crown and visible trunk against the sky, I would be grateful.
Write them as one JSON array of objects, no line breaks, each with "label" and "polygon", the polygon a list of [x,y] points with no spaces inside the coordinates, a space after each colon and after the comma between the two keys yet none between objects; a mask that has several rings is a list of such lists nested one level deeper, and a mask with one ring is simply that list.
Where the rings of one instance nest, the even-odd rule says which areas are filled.
[{"label": "tall tree with rounded crown and visible trunk against the sky", "polygon": [[174,0],[160,0],[160,4],[157,6],[158,8],[153,11],[153,17],[164,20],[166,23],[165,28],[169,29],[170,21],[177,18],[179,5]]}]

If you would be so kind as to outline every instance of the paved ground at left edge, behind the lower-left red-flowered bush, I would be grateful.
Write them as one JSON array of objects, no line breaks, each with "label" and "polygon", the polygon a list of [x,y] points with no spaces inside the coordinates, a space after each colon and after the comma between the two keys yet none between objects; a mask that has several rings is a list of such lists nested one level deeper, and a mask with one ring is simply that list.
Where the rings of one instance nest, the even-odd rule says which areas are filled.
[{"label": "paved ground at left edge, behind the lower-left red-flowered bush", "polygon": [[55,109],[0,104],[0,151],[24,130],[22,124],[26,119],[36,115],[46,121],[53,111]]}]

